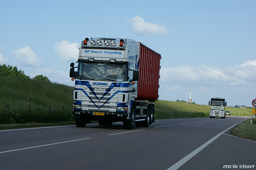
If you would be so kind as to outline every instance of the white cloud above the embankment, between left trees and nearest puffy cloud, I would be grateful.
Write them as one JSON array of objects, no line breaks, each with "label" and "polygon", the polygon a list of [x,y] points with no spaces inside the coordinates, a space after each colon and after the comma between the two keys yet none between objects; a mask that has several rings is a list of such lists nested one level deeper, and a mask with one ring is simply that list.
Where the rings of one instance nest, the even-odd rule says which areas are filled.
[{"label": "white cloud above the embankment, between left trees and nearest puffy cloud", "polygon": [[40,59],[36,57],[36,54],[29,46],[21,47],[20,49],[13,51],[12,54],[23,66],[33,67],[41,65]]}]

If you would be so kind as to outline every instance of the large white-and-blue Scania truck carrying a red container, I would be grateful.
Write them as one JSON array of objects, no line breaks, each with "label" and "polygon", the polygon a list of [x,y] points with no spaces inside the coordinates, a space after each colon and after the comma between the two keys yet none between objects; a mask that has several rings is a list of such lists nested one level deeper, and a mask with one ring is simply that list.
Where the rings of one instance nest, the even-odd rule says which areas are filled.
[{"label": "large white-and-blue Scania truck carrying a red container", "polygon": [[[154,122],[161,55],[140,42],[122,38],[86,38],[80,45],[73,115],[77,127],[123,122],[125,129]],[[77,71],[75,71],[77,69]]]}]

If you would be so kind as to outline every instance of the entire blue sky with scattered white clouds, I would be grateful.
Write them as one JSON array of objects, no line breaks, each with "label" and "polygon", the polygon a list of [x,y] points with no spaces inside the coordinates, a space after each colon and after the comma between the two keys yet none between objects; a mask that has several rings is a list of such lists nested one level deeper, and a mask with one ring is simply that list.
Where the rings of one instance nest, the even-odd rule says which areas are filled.
[{"label": "entire blue sky with scattered white clouds", "polygon": [[0,0],[0,64],[74,85],[69,65],[88,37],[129,38],[162,55],[159,99],[252,107],[255,0]]}]

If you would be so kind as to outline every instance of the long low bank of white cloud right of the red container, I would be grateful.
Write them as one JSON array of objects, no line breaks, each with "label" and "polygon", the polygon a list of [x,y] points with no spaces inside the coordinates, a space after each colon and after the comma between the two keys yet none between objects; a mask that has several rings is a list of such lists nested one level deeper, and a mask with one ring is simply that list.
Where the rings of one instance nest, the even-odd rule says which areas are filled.
[{"label": "long low bank of white cloud right of the red container", "polygon": [[160,81],[166,82],[200,82],[200,83],[228,83],[229,85],[244,85],[256,82],[256,60],[246,61],[241,65],[228,67],[200,67],[182,66],[161,68]]}]

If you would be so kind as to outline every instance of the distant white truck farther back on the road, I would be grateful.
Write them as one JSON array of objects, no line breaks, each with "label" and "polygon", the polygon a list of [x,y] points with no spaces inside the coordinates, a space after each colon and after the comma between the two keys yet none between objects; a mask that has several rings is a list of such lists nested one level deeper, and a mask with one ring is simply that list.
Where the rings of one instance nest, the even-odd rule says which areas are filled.
[{"label": "distant white truck farther back on the road", "polygon": [[227,102],[225,102],[224,98],[214,97],[209,101],[209,105],[211,107],[210,118],[221,117],[222,119],[225,119],[225,106],[227,105]]}]

